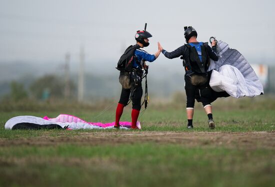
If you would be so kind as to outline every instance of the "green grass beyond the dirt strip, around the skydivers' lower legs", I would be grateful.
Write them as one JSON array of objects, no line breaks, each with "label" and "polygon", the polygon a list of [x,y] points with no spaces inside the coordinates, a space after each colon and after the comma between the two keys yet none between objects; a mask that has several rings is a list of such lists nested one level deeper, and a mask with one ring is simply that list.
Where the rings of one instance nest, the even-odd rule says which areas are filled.
[{"label": "green grass beyond the dirt strip, around the skydivers' lower legs", "polygon": [[[129,107],[128,107],[129,108]],[[121,117],[121,121],[130,121],[130,109],[125,109]],[[100,111],[90,112],[74,112],[69,113],[80,117],[86,121],[93,122],[111,122],[114,121],[114,111],[106,111],[104,114],[96,117]],[[4,130],[4,123],[11,117],[18,115],[33,115],[43,117],[56,117],[58,112],[0,112],[0,137],[14,138],[14,137],[31,137],[38,136],[45,130],[33,131],[33,130],[18,130],[7,131]],[[199,108],[195,110],[193,125],[194,129],[191,131],[209,131],[209,132],[250,132],[250,131],[274,131],[275,130],[275,109],[236,109],[228,111],[214,111],[213,117],[216,123],[216,129],[211,130],[208,128],[207,116],[204,111]],[[142,116],[139,117],[141,122],[142,131],[186,131],[186,116],[184,109],[172,109],[168,108],[157,110],[155,108],[148,108]],[[60,131],[52,130],[49,135],[58,135],[58,133],[78,134],[79,132],[98,132],[100,130],[78,130],[78,131]],[[104,130],[106,131],[106,130]],[[107,130],[113,131],[113,130]]]}]

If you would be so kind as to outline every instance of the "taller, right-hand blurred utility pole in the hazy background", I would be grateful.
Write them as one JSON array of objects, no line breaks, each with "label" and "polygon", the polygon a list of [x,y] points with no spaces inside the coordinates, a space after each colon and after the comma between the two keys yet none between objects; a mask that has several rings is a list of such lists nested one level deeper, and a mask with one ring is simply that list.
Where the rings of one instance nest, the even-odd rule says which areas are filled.
[{"label": "taller, right-hand blurred utility pole in the hazy background", "polygon": [[80,47],[80,55],[79,55],[79,72],[78,72],[78,102],[83,101],[84,95],[84,48]]}]

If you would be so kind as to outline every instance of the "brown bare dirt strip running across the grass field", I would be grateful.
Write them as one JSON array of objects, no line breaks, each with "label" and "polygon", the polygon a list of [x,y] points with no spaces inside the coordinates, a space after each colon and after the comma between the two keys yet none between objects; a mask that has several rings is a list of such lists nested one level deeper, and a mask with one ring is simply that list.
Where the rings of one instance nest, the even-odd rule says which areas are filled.
[{"label": "brown bare dirt strip running across the grass field", "polygon": [[180,144],[183,146],[223,146],[234,148],[275,149],[275,132],[83,132],[77,135],[46,134],[31,138],[0,138],[0,146],[58,144],[119,145],[134,143]]}]

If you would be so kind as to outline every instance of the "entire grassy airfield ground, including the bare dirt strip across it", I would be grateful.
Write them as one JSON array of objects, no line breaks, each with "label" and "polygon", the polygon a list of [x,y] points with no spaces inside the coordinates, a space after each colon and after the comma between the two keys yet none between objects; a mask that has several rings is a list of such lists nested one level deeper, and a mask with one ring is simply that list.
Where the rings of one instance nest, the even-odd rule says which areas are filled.
[{"label": "entire grassy airfield ground, including the bare dirt strip across it", "polygon": [[[142,130],[5,130],[18,115],[114,120],[102,109],[0,112],[0,186],[273,186],[275,102],[257,98],[213,103],[210,130],[200,104],[193,130],[184,102],[149,104]],[[130,120],[130,106],[121,120]]]}]

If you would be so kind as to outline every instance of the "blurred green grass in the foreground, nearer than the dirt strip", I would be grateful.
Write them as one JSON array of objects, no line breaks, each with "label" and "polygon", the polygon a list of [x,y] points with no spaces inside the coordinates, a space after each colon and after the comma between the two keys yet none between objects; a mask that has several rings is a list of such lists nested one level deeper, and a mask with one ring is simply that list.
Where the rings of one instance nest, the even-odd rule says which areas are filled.
[{"label": "blurred green grass in the foreground, nearer than the dirt strip", "polygon": [[1,161],[0,185],[271,186],[275,181],[274,152],[266,149],[137,143],[14,146],[0,152],[10,158]]}]

